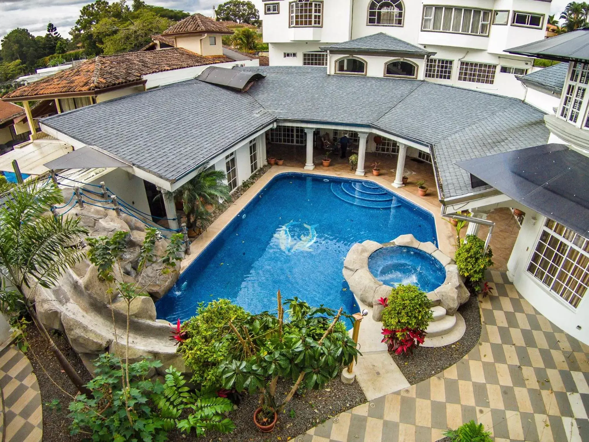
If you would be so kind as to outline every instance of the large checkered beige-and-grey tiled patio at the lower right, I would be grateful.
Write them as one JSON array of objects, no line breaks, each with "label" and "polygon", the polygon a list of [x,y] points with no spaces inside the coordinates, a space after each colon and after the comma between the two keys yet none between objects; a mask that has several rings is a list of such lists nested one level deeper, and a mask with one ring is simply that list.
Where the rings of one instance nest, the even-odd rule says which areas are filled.
[{"label": "large checkered beige-and-grey tiled patio at the lower right", "polygon": [[431,442],[474,419],[495,442],[589,442],[589,346],[492,272],[479,345],[426,381],[337,415],[296,442]]}]

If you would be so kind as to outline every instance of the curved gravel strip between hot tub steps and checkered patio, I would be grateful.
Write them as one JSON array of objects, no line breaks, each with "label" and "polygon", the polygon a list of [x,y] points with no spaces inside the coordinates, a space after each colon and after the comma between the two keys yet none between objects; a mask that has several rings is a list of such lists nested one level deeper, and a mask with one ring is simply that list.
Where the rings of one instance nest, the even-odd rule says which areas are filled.
[{"label": "curved gravel strip between hot tub steps and checkered patio", "polygon": [[391,353],[393,361],[401,369],[409,384],[418,384],[446,370],[477,345],[481,337],[481,314],[477,296],[471,296],[458,308],[458,312],[466,324],[464,336],[459,341],[444,347],[418,347],[413,351],[413,355]]}]

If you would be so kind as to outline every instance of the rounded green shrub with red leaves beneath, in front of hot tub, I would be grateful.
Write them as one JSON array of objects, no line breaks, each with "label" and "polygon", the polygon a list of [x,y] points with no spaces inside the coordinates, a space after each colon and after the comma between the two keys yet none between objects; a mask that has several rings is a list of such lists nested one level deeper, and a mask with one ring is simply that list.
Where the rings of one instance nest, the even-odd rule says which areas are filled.
[{"label": "rounded green shrub with red leaves beneath, in front of hot tub", "polygon": [[425,292],[414,285],[399,285],[391,296],[380,298],[382,311],[382,342],[395,354],[412,354],[413,348],[423,344],[425,329],[434,319]]}]

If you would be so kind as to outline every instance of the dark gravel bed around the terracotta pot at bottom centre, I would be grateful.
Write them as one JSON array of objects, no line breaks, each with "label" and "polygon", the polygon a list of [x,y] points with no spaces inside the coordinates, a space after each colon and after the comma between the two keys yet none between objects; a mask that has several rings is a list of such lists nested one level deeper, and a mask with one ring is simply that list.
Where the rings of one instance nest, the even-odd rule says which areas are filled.
[{"label": "dark gravel bed around the terracotta pot at bottom centre", "polygon": [[[277,402],[282,402],[292,382],[281,381],[277,387]],[[366,402],[366,397],[358,382],[343,385],[339,376],[327,382],[323,390],[307,390],[303,394],[294,395],[292,401],[286,405],[284,412],[279,415],[276,427],[272,433],[262,433],[254,424],[253,415],[258,405],[259,396],[244,395],[236,411],[229,417],[236,425],[233,433],[220,434],[210,432],[201,440],[203,442],[266,442],[276,440],[293,440],[294,437],[305,433],[327,419]],[[168,439],[173,442],[190,440],[178,431],[168,433]]]}]

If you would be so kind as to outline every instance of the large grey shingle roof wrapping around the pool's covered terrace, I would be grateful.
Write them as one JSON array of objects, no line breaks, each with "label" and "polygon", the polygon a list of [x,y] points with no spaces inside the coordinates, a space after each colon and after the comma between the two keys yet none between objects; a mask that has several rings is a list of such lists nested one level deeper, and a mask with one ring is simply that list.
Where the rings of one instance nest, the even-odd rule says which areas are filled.
[{"label": "large grey shingle roof wrapping around the pool's covered terrace", "polygon": [[43,122],[170,180],[274,118],[379,128],[432,148],[444,198],[472,192],[456,161],[548,140],[544,114],[515,98],[428,81],[327,75],[324,67],[240,70],[266,78],[247,93],[190,80]]}]

